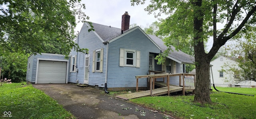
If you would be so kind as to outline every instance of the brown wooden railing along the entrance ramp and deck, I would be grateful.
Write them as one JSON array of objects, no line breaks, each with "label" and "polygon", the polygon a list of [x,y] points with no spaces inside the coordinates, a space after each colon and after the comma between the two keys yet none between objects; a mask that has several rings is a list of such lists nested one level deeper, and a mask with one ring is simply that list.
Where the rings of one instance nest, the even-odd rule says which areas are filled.
[{"label": "brown wooden railing along the entrance ramp and deck", "polygon": [[[188,73],[178,73],[178,74],[170,74],[162,71],[152,71],[149,70],[148,75],[142,75],[142,76],[135,76],[136,77],[136,92],[138,92],[138,79],[139,78],[148,78],[149,85],[150,85],[150,96],[152,96],[152,90],[154,89],[154,83],[156,78],[163,78],[163,82],[165,78],[167,79],[166,81],[166,86],[168,86],[168,95],[170,95],[170,76],[179,76],[179,86],[183,87],[183,92],[182,94],[185,95],[185,87],[194,87],[195,86],[195,75],[196,74],[188,74]],[[184,79],[184,80],[183,80]]]}]

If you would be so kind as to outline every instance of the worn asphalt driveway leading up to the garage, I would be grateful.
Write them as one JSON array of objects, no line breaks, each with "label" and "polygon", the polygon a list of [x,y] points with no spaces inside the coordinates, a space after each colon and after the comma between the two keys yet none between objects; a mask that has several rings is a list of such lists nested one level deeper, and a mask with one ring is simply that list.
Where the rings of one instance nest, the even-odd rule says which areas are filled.
[{"label": "worn asphalt driveway leading up to the garage", "polygon": [[104,91],[91,87],[78,87],[74,84],[33,86],[57,100],[78,119],[162,119],[166,116],[129,101],[112,98],[104,94]]}]

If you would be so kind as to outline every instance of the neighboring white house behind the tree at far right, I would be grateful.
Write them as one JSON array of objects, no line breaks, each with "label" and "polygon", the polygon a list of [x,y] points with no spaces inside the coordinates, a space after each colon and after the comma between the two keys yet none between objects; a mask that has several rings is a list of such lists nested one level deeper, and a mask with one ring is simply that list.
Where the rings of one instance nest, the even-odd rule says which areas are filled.
[{"label": "neighboring white house behind the tree at far right", "polygon": [[[222,70],[222,66],[226,64],[230,65],[237,65],[238,63],[235,61],[236,58],[232,57],[224,57],[220,56],[217,59],[210,62],[212,64],[212,78],[211,80],[214,81],[215,86],[219,87],[255,87],[256,82],[254,81],[246,81],[240,83],[234,83],[233,76],[226,74]],[[213,82],[212,82],[213,83]]]}]

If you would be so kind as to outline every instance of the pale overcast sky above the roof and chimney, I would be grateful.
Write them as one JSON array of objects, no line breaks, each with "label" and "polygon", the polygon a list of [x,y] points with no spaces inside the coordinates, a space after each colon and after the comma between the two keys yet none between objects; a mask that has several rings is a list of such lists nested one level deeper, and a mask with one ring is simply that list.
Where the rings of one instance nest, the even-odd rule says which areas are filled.
[{"label": "pale overcast sky above the roof and chimney", "polygon": [[[111,27],[121,28],[122,15],[128,12],[130,15],[130,25],[136,23],[140,27],[147,27],[154,21],[158,21],[158,18],[165,19],[166,15],[162,15],[158,18],[154,17],[154,14],[148,14],[144,9],[148,6],[149,1],[143,5],[131,6],[130,0],[82,0],[82,4],[85,4],[85,14],[90,17],[88,21],[98,23],[102,25],[108,25]],[[75,31],[80,31],[82,23],[76,25]],[[213,39],[209,39],[207,43],[207,51],[212,48]]]}]

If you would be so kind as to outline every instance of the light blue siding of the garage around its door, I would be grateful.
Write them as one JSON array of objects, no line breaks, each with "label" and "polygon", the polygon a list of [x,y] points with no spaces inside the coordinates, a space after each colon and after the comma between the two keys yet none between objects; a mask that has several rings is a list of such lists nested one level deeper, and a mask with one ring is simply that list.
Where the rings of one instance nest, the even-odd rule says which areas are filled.
[{"label": "light blue siding of the garage around its door", "polygon": [[[58,54],[50,54],[50,53],[41,53],[38,55],[30,55],[28,57],[28,64],[27,64],[27,76],[26,80],[31,83],[36,83],[36,66],[37,66],[37,60],[38,59],[55,59],[55,60],[66,60],[64,55],[58,55]],[[30,70],[28,70],[28,65],[30,62]]]}]

